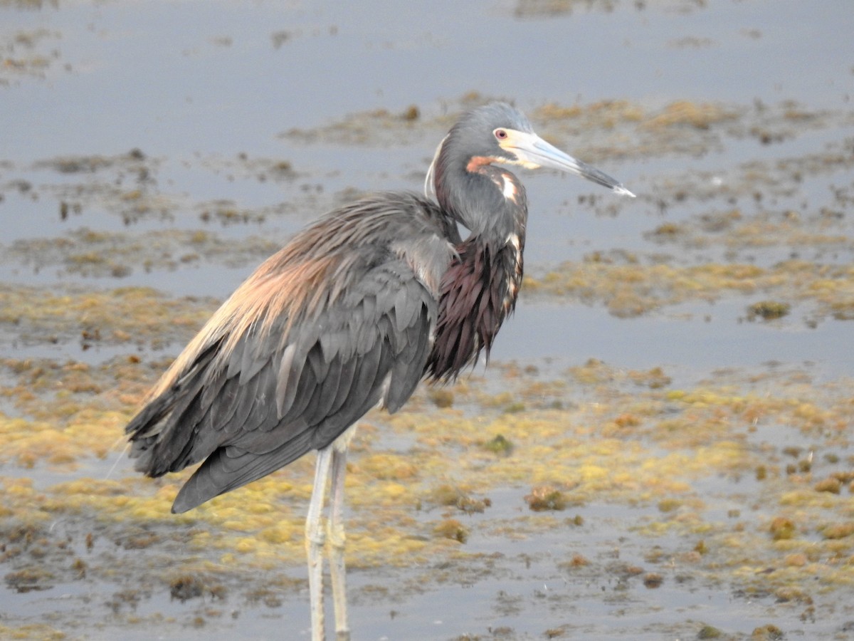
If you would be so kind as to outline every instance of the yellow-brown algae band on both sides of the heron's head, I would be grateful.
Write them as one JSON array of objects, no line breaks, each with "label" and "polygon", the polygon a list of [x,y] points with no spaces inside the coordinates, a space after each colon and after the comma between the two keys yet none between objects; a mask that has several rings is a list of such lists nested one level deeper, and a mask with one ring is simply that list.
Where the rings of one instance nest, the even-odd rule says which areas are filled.
[{"label": "yellow-brown algae band on both sides of the heron's head", "polygon": [[[392,146],[422,144],[426,134],[433,138],[447,132],[454,115],[501,97],[476,91],[459,96],[442,109],[418,108],[404,111],[373,109],[345,116],[339,121],[312,129],[293,128],[281,138],[301,144]],[[419,117],[412,118],[412,109]],[[762,144],[794,138],[810,130],[851,125],[851,113],[839,110],[810,110],[791,101],[752,106],[697,103],[676,100],[648,105],[628,100],[594,103],[547,103],[529,109],[540,134],[581,157],[603,159],[649,156],[700,156],[722,150],[728,140],[755,138]]]}]

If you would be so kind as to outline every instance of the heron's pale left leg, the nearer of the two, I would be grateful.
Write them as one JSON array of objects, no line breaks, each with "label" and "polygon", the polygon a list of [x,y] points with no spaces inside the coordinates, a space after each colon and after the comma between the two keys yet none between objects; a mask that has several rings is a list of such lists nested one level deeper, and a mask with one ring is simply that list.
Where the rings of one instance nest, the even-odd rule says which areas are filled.
[{"label": "heron's pale left leg, the nearer of the two", "polygon": [[306,518],[306,554],[308,556],[308,591],[312,609],[312,641],[324,641],[323,606],[323,546],[325,532],[323,506],[326,498],[326,479],[329,478],[332,462],[332,447],[318,451],[318,462],[314,468],[314,489],[308,503]]}]

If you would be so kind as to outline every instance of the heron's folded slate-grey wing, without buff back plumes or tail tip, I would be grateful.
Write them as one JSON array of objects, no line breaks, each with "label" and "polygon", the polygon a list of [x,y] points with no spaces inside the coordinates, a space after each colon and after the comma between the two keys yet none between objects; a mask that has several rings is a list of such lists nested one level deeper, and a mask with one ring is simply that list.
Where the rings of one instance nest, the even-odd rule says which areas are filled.
[{"label": "heron's folded slate-grey wing, without buff back plumes or tail tip", "polygon": [[178,418],[197,426],[178,464],[207,458],[174,511],[325,448],[377,403],[394,412],[412,395],[430,353],[436,301],[401,262],[375,268],[359,289],[293,328],[285,344],[276,325],[266,338],[242,338]]}]

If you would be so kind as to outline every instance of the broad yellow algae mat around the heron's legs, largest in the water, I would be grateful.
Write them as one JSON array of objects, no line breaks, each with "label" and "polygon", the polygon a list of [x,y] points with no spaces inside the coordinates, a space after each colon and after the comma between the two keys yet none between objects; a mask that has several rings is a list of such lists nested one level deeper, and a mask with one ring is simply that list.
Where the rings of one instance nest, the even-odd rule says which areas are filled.
[{"label": "broad yellow algae mat around the heron's legs, largest in the water", "polygon": [[[7,367],[20,377],[32,376],[31,367],[14,366],[7,362]],[[114,376],[117,367],[137,371],[126,383],[126,389],[93,393],[91,385],[100,389],[97,380]],[[47,370],[65,380],[72,374],[84,373],[86,380],[78,382],[69,396],[86,397],[90,402],[87,410],[95,413],[83,418],[71,414],[65,425],[51,427],[27,415],[29,411],[36,413],[36,403],[21,403],[22,415],[4,427],[3,438],[10,447],[3,456],[23,467],[85,466],[93,452],[108,456],[109,450],[99,450],[99,446],[108,442],[108,434],[120,432],[129,416],[127,408],[124,412],[115,408],[143,393],[145,384],[155,376],[154,369],[142,362],[120,362],[105,365],[102,371]],[[595,375],[588,376],[585,371]],[[761,575],[762,582],[775,589],[793,585],[799,573],[817,573],[828,589],[847,585],[845,567],[854,558],[854,529],[851,520],[834,517],[854,514],[851,493],[842,490],[840,480],[850,476],[845,457],[825,458],[821,469],[782,473],[787,453],[767,443],[757,447],[751,432],[757,422],[780,426],[790,433],[803,433],[818,452],[839,451],[839,447],[848,444],[844,435],[845,426],[850,425],[851,397],[839,395],[845,385],[818,388],[823,397],[816,398],[814,385],[775,373],[752,374],[751,385],[756,390],[733,394],[730,388],[737,381],[726,377],[717,385],[668,389],[638,385],[638,373],[610,368],[601,362],[589,362],[574,372],[578,382],[573,385],[594,385],[594,395],[591,397],[588,391],[585,403],[570,408],[531,409],[520,415],[506,415],[495,408],[488,393],[461,384],[459,389],[453,388],[459,404],[466,409],[481,408],[471,415],[466,415],[464,409],[444,409],[436,414],[435,409],[430,409],[427,391],[418,392],[413,409],[391,417],[371,414],[362,430],[371,442],[371,451],[360,447],[357,438],[348,470],[348,503],[354,511],[348,520],[348,562],[354,567],[412,567],[424,559],[447,554],[447,542],[462,544],[460,550],[465,550],[471,526],[450,515],[432,518],[428,514],[425,519],[419,506],[439,504],[471,513],[477,501],[473,493],[483,495],[509,484],[520,486],[519,500],[523,488],[533,486],[525,499],[531,509],[560,510],[569,505],[601,502],[654,507],[658,515],[641,518],[633,528],[635,535],[648,538],[651,543],[671,535],[702,537],[701,546],[690,544],[690,548],[700,550],[699,554],[694,552],[698,557],[693,562],[693,572],[717,579],[726,574],[734,585],[756,585],[760,576],[757,568],[769,564],[781,569]],[[656,372],[653,378],[660,375]],[[567,393],[565,381],[551,386],[526,378],[507,381],[520,397],[527,397],[531,389],[539,396],[544,389],[551,390],[553,396]],[[769,389],[775,393],[769,393]],[[599,403],[600,395],[607,397],[608,403]],[[541,403],[547,405],[547,401],[542,399]],[[49,398],[38,413],[61,414],[57,408],[68,402],[67,398]],[[41,404],[44,403],[42,399]],[[98,411],[104,419],[97,418]],[[451,416],[442,418],[446,413]],[[816,420],[816,413],[821,415],[820,420]],[[78,425],[85,425],[86,429],[77,430]],[[409,434],[414,443],[412,449],[383,450],[382,439],[377,438],[373,427],[377,425],[401,435]],[[51,438],[39,436],[50,429],[54,430]],[[492,438],[512,433],[513,450],[495,457],[488,450],[472,447],[483,444],[484,435],[490,432],[494,434]],[[611,433],[615,436],[609,436]],[[52,445],[45,449],[44,443]],[[725,521],[705,518],[719,499],[701,495],[696,484],[716,476],[739,479],[758,465],[765,466],[768,473],[757,492],[763,497],[763,504],[777,514],[772,512],[767,520],[755,520],[756,504],[735,490],[722,497],[726,504],[741,505],[739,510],[729,508],[733,517]],[[830,476],[833,473],[838,476]],[[20,541],[44,538],[47,543],[42,546],[50,555],[54,553],[50,551],[53,539],[45,533],[45,526],[62,518],[88,521],[92,525],[86,533],[94,533],[96,540],[103,536],[115,538],[126,549],[145,555],[166,553],[170,545],[179,542],[200,556],[199,561],[219,567],[215,580],[206,579],[212,585],[228,584],[229,576],[248,567],[270,570],[283,562],[301,562],[304,505],[311,494],[310,461],[296,462],[281,473],[219,497],[189,514],[169,515],[168,505],[186,475],[156,482],[136,477],[79,478],[44,489],[36,489],[27,479],[3,479],[4,514],[15,517],[19,523],[15,532],[22,532],[8,536]],[[437,486],[434,479],[453,479],[453,485],[445,482]],[[822,487],[822,480],[826,479],[836,480],[839,492]],[[26,519],[21,520],[23,515]],[[500,520],[487,519],[477,527],[507,536],[512,532],[518,537],[525,532],[532,536],[543,527],[553,526],[553,521],[514,519],[502,525]],[[85,535],[85,529],[80,529],[79,536]],[[779,548],[782,543],[790,545]],[[22,560],[13,553],[7,557],[11,563]],[[66,565],[69,577],[79,575],[79,563],[75,566],[71,560]],[[13,572],[26,578],[27,567],[22,563]],[[186,567],[189,566],[181,562],[173,570],[178,577],[189,575]],[[196,567],[193,575],[199,572]],[[108,573],[95,558],[85,563],[85,574]],[[176,579],[164,575],[162,580],[163,585],[169,585],[170,580]],[[657,580],[650,579],[649,583]],[[26,582],[21,579],[20,585]]]}]

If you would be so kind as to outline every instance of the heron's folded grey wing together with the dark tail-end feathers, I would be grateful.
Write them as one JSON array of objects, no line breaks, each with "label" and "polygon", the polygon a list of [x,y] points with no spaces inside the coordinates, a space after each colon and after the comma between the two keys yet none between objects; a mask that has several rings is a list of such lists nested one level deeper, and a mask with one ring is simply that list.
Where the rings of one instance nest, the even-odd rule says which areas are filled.
[{"label": "heron's folded grey wing together with the dark tail-end feathers", "polygon": [[326,447],[377,403],[393,412],[410,397],[430,353],[435,293],[389,250],[349,261],[347,273],[346,291],[311,314],[258,319],[231,343],[208,332],[127,426],[131,456],[151,476],[204,461],[173,511]]}]

